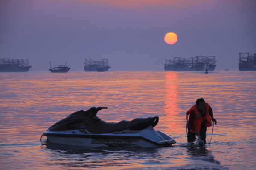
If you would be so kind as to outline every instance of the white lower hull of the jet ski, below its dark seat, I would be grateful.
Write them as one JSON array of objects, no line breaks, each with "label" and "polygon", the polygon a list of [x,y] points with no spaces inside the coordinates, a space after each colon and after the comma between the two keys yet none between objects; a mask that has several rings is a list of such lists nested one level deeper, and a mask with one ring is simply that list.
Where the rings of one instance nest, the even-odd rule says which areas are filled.
[{"label": "white lower hull of the jet ski, below its dark seat", "polygon": [[171,146],[176,141],[154,130],[152,126],[143,130],[123,130],[120,132],[96,134],[87,130],[50,131],[43,134],[47,140],[56,144],[79,147],[163,147]]}]

